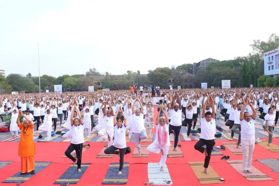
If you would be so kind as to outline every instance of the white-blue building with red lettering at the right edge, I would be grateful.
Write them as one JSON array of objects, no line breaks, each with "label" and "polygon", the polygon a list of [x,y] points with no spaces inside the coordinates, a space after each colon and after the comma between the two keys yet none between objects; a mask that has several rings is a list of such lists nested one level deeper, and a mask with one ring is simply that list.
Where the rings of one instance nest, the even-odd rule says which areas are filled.
[{"label": "white-blue building with red lettering at the right edge", "polygon": [[275,78],[279,75],[279,48],[263,54],[264,75]]}]

